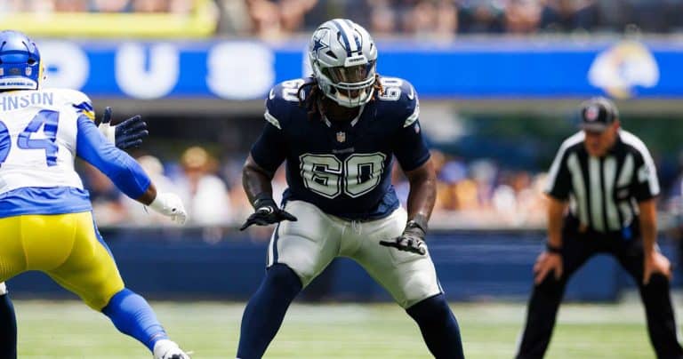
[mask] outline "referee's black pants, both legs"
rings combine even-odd
[[[643,285],[644,252],[638,237],[624,239],[622,235],[598,233],[579,234],[575,230],[563,230],[563,273],[559,280],[553,273],[546,275],[542,283],[534,285],[526,313],[526,327],[518,348],[517,358],[542,358],[550,343],[552,329],[559,303],[565,292],[566,282],[593,254],[612,254],[638,283],[640,299],[645,305],[647,332],[658,358],[683,358],[683,348],[676,337],[676,322],[669,281],[662,274],[654,274]]]

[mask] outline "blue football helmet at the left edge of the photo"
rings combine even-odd
[[[36,44],[19,31],[0,32],[0,91],[37,90],[42,77]]]

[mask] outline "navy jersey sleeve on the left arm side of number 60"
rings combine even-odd
[[[266,111],[263,117],[266,124],[258,140],[251,150],[252,158],[264,170],[275,172],[286,158],[286,140],[283,126],[289,120],[289,106],[291,104],[280,96],[281,85],[273,87],[266,100]]]

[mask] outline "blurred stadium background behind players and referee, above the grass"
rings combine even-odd
[[[478,313],[492,299],[511,300],[506,310],[518,314],[511,327],[521,327],[544,237],[544,172],[559,142],[576,131],[577,105],[594,95],[614,98],[624,127],[653,152],[663,187],[660,241],[679,262],[681,0],[2,0],[2,28],[36,38],[47,86],[87,93],[99,113],[111,106],[117,118],[145,118],[151,134],[133,156],[158,187],[180,193],[189,207],[189,226],[170,226],[79,164],[129,287],[151,299],[179,300],[182,310],[200,299],[234,300],[235,313],[227,316],[238,322],[241,301],[261,280],[270,231],[236,229],[252,211],[241,165],[264,124],[270,86],[307,74],[309,33],[333,17],[368,28],[380,74],[406,78],[420,94],[422,128],[438,164],[430,251],[448,299],[473,303],[455,306]],[[285,187],[283,174],[276,191]],[[400,172],[394,183],[405,200]],[[622,303],[634,287],[617,266],[593,259],[570,283],[567,299]],[[74,298],[44,275],[22,275],[9,286],[20,299],[20,322],[22,305],[36,323],[44,320],[34,312],[43,304],[29,299]],[[390,300],[345,259],[302,299]],[[609,309],[615,318],[619,306]],[[642,326],[642,318],[635,322]],[[234,341],[237,323],[229,325]],[[641,329],[635,335],[645,339]],[[510,350],[502,349],[503,357]]]

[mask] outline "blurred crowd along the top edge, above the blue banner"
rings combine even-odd
[[[683,0],[0,0],[12,12],[169,12],[212,3],[218,32],[277,39],[345,17],[375,36],[678,32]]]

